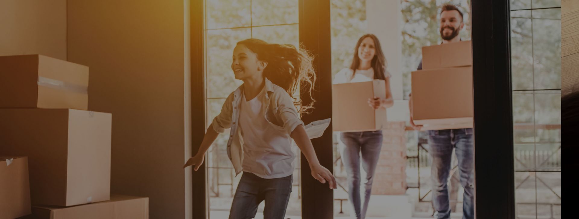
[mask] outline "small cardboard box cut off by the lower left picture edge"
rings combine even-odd
[[[13,219],[30,213],[28,158],[0,155],[0,219]]]

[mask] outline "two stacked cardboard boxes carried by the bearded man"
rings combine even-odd
[[[472,127],[471,41],[422,48],[423,70],[412,72],[412,117],[423,130]]]

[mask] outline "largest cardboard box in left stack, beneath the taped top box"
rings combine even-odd
[[[0,109],[0,154],[28,155],[32,205],[109,199],[111,118],[77,109]]]

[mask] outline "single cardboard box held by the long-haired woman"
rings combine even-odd
[[[386,109],[374,109],[368,98],[386,98],[383,80],[332,85],[332,126],[339,132],[380,130],[386,124]]]

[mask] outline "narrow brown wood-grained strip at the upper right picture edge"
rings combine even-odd
[[[562,94],[579,92],[579,0],[561,2]]]

